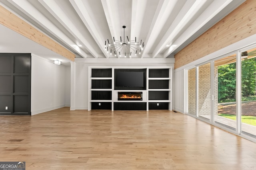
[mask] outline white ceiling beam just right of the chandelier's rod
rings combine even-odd
[[[131,35],[130,35],[131,40],[132,39],[135,40],[135,37],[136,37],[137,41],[139,41],[139,35],[142,29],[142,23],[143,23],[144,14],[146,11],[146,5],[147,5],[147,0],[132,0],[132,24],[131,24]]]

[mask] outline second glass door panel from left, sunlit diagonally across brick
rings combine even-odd
[[[211,113],[211,65],[198,66],[198,117],[210,121]]]

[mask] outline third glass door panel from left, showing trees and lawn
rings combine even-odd
[[[214,96],[214,123],[235,131],[236,54],[214,61]]]

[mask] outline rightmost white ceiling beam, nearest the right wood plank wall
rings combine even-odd
[[[206,25],[210,20],[212,20],[218,13],[220,13],[226,6],[236,1],[236,3],[244,2],[245,0],[214,0],[204,12],[192,23],[178,39],[176,39],[165,52],[164,58],[168,57],[173,51],[175,51],[180,45],[186,42],[192,35],[194,35],[200,28]],[[220,6],[220,4],[222,4]]]

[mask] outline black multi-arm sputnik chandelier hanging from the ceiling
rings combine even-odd
[[[123,26],[123,28],[125,29],[126,26]],[[119,55],[119,57],[121,57],[122,51],[124,53],[124,57],[126,57],[126,54],[129,54],[129,57],[131,57],[132,51],[135,53],[135,55],[137,55],[137,53],[140,54],[143,50],[144,42],[142,43],[142,40],[137,42],[136,37],[135,40],[129,40],[128,36],[126,37],[127,39],[125,39],[125,36],[122,39],[120,36],[120,41],[116,40],[115,37],[113,37],[113,41],[105,41],[105,50],[107,53],[110,52],[110,55],[114,53],[115,56]]]

